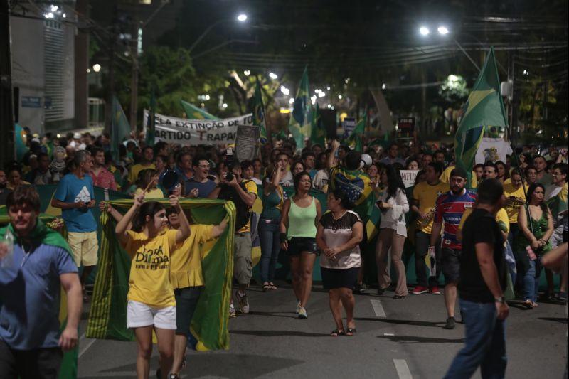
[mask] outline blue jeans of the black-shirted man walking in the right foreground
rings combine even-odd
[[[506,374],[506,322],[496,319],[496,304],[460,299],[466,324],[464,348],[454,357],[445,379],[470,378],[480,366],[482,378]]]

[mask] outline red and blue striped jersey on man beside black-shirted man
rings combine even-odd
[[[476,201],[476,195],[468,190],[460,195],[454,195],[452,191],[443,193],[437,198],[435,203],[435,223],[445,222],[442,233],[442,247],[451,249],[462,249],[461,243],[457,240],[457,230],[464,210],[472,208]]]

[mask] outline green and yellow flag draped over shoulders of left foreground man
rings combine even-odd
[[[8,215],[5,213],[6,207],[2,207],[0,210],[0,224],[9,223]],[[45,245],[61,247],[63,250],[71,254],[71,249],[63,238],[55,230],[48,228],[43,220],[50,220],[53,217],[48,215],[42,215],[38,218],[38,223],[36,228],[34,228],[29,237],[33,241],[41,241],[41,243]],[[0,229],[0,239],[4,239],[4,235],[6,234],[6,230],[10,230],[11,233],[15,236],[14,229],[12,225],[7,225],[4,228]],[[60,291],[60,301],[59,301],[59,324],[60,330],[63,331],[65,329],[65,324],[67,324],[67,294],[63,290],[63,287]],[[78,346],[75,346],[73,350],[66,351],[63,354],[63,361],[61,362],[61,366],[59,369],[59,376],[60,379],[74,379],[77,378],[77,359],[78,359]]]

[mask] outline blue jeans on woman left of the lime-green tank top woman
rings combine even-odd
[[[261,218],[259,220],[259,239],[261,242],[261,282],[275,279],[275,268],[280,252],[280,221]]]

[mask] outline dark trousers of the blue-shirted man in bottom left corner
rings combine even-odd
[[[14,350],[0,339],[0,378],[57,379],[62,358],[60,348]]]

